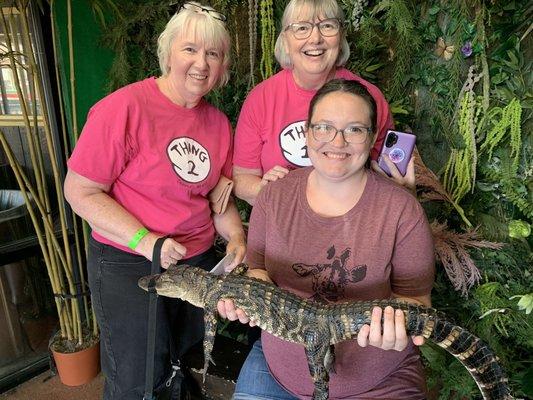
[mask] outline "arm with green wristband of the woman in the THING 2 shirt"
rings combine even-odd
[[[95,182],[69,169],[65,179],[65,198],[72,210],[86,220],[95,232],[117,244],[127,246],[143,225],[109,196],[110,188],[109,184]],[[152,260],[154,244],[159,237],[149,232],[139,241],[135,251]],[[185,254],[185,247],[169,238],[161,249],[161,265],[168,267]]]

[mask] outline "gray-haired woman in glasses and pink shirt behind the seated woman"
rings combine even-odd
[[[250,92],[235,130],[235,194],[248,203],[253,205],[269,182],[311,165],[304,131],[309,102],[333,78],[359,81],[377,103],[377,136],[371,153],[372,159],[377,158],[387,130],[393,127],[392,117],[381,91],[343,67],[350,55],[344,23],[336,0],[291,0],[285,8],[275,47],[282,70]],[[405,177],[394,163],[385,162],[397,183],[414,188],[413,162]],[[377,163],[372,166],[382,172]]]

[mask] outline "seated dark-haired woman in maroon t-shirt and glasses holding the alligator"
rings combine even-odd
[[[311,101],[312,167],[267,185],[250,219],[249,275],[325,302],[401,298],[430,306],[431,232],[404,188],[365,167],[376,140],[376,104],[358,82],[332,80]],[[312,234],[310,235],[310,233]],[[242,310],[219,306],[229,319]],[[383,315],[383,323],[381,318]],[[252,321],[253,323],[253,321]],[[356,340],[335,346],[332,399],[424,399],[419,353],[403,313],[372,310]],[[263,332],[242,367],[235,400],[309,399],[303,346]]]

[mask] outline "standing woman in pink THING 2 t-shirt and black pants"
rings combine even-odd
[[[150,273],[157,239],[168,237],[163,268],[187,263],[211,269],[215,232],[228,240],[235,264],[244,256],[234,203],[212,214],[208,201],[221,176],[231,177],[230,123],[203,99],[228,80],[224,20],[211,7],[185,3],[159,37],[162,76],[97,103],[68,162],[65,196],[92,227],[88,273],[105,399],[143,398],[149,296],[137,281]],[[203,335],[200,309],[160,301],[165,307],[157,314],[156,387],[169,375],[169,358]]]

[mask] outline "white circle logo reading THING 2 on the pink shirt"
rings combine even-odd
[[[196,140],[188,137],[174,139],[167,147],[167,154],[174,172],[184,181],[198,183],[209,175],[209,153]]]

